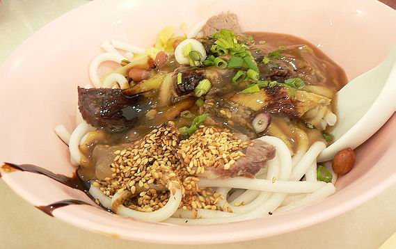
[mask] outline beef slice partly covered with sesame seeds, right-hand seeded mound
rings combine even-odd
[[[243,138],[244,140],[241,140]],[[177,156],[191,175],[207,179],[253,178],[274,159],[276,149],[262,140],[246,140],[220,127],[200,127],[180,141]]]

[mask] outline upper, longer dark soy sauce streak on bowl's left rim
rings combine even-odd
[[[54,179],[56,182],[60,182],[61,184],[65,184],[66,186],[70,186],[70,188],[75,188],[80,191],[88,190],[88,186],[77,176],[74,174],[73,177],[67,177],[65,175],[56,174],[45,168],[40,168],[38,166],[34,166],[32,164],[14,164],[14,163],[4,163],[2,166],[4,172],[13,172],[15,170],[32,172],[39,175],[45,175],[51,179]]]

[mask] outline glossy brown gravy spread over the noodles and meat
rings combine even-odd
[[[276,88],[270,88],[268,91],[266,90],[264,95],[261,95],[261,99],[252,99],[255,98],[255,95],[242,96],[247,99],[241,99],[241,104],[239,103],[239,106],[235,107],[235,99],[230,100],[230,98],[237,95],[237,93],[251,83],[242,81],[239,86],[233,84],[231,80],[237,70],[220,70],[214,66],[188,68],[187,70],[191,72],[187,75],[189,75],[188,77],[192,77],[191,79],[205,75],[212,82],[212,92],[207,94],[206,100],[212,98],[217,105],[206,110],[210,112],[210,119],[207,120],[207,124],[228,125],[233,131],[246,134],[252,139],[264,134],[277,136],[286,143],[287,147],[293,153],[299,150],[308,150],[308,147],[317,140],[322,140],[326,143],[326,140],[322,136],[323,131],[308,129],[306,127],[306,121],[301,120],[304,116],[294,118],[299,111],[296,106],[299,105],[299,101],[304,101],[304,99],[310,100],[310,96],[307,97],[304,94],[315,93],[321,97],[326,97],[326,99],[331,99],[331,105],[326,107],[326,109],[328,108],[333,113],[336,113],[334,104],[336,93],[347,83],[344,70],[331,61],[322,51],[317,49],[315,45],[293,35],[265,32],[250,32],[247,35],[253,35],[255,40],[255,45],[251,51],[253,57],[260,64],[260,77],[263,80],[274,80],[271,78],[271,76],[274,76],[274,71],[277,73],[278,71],[280,72],[280,82],[292,77],[299,77],[306,83],[306,86],[301,89],[303,92],[300,93],[300,96],[303,96],[303,98],[299,100],[294,99],[291,95],[280,96]],[[281,47],[283,49],[280,49]],[[264,63],[261,63],[262,57],[269,56],[269,53],[272,51],[279,51],[281,56],[276,59],[271,58],[274,60],[273,65],[264,65]],[[168,63],[159,70],[155,70],[155,72],[173,73],[174,70],[185,72],[184,70],[186,68],[180,67],[180,65],[175,63],[173,57],[171,57]],[[278,74],[275,74],[275,77],[278,77]],[[168,103],[168,106],[159,106],[160,90],[146,92],[145,96],[150,100],[148,102],[150,104],[150,111],[140,117],[138,122],[140,125],[138,127],[118,134],[107,134],[101,130],[88,134],[85,143],[80,146],[81,152],[84,154],[79,169],[80,177],[83,177],[87,181],[93,178],[104,179],[106,175],[111,175],[109,164],[113,163],[113,152],[116,152],[116,150],[121,151],[123,148],[129,146],[134,140],[147,134],[152,129],[151,127],[155,127],[157,124],[168,120],[175,121],[177,127],[189,126],[191,124],[193,118],[180,118],[180,112],[177,111],[178,105],[183,105],[181,104],[183,101],[189,101],[188,97],[175,97]],[[258,110],[261,110],[262,107],[255,106],[254,104],[263,102],[265,101],[264,99],[272,102],[271,106],[275,108],[282,101],[289,102],[289,104],[292,103],[292,107],[280,106],[283,112],[280,111],[279,113],[283,114],[271,112],[272,121],[267,131],[264,134],[255,134],[254,131],[252,133],[251,120],[254,118],[255,113],[260,112]],[[195,102],[196,99],[193,98],[191,101]],[[248,105],[248,102],[251,105]],[[254,107],[257,107],[257,109],[254,109]],[[285,114],[285,109],[290,109],[290,115]],[[194,116],[199,115],[205,110],[202,108],[198,109],[194,104],[192,107],[189,106],[189,111]],[[228,111],[232,113],[228,115]],[[225,115],[223,115],[224,113]],[[328,129],[324,132],[328,132]]]

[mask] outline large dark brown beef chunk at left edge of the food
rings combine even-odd
[[[134,127],[150,110],[143,95],[126,97],[120,89],[78,88],[79,111],[93,127],[120,132]]]

